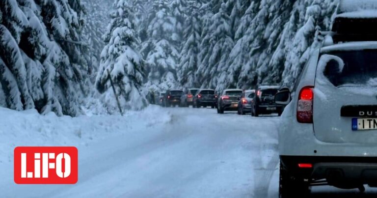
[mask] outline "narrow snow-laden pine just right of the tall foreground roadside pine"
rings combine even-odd
[[[155,91],[174,88],[178,85],[176,66],[179,52],[175,45],[175,19],[171,16],[167,0],[155,0],[149,15],[148,40],[143,43],[142,54],[146,57],[147,89]]]

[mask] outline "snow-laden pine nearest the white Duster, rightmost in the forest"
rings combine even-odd
[[[331,28],[332,18],[336,14],[338,0],[297,1],[293,14],[286,24],[281,42],[270,67],[274,73],[280,72],[283,85],[293,87],[302,67],[313,49],[321,47],[318,31]],[[301,8],[305,7],[305,10]],[[292,28],[292,29],[291,29]],[[280,64],[276,64],[279,62]],[[270,74],[275,77],[276,75]]]

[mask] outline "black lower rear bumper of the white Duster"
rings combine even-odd
[[[377,185],[377,157],[280,156],[280,160],[290,173],[309,181],[326,179],[339,188]],[[313,168],[301,169],[298,163],[310,163]]]

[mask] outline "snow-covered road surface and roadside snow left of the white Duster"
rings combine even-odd
[[[51,122],[44,120],[49,116],[35,116],[37,118],[33,119],[38,119],[42,126]],[[82,125],[80,140],[61,143],[79,149],[78,183],[16,185],[13,182],[13,161],[7,161],[9,156],[0,153],[0,197],[278,197],[278,117],[255,118],[236,113],[220,115],[213,109],[153,107],[142,113],[108,120],[96,116],[54,119],[62,122],[62,126],[56,125],[57,129],[63,127],[65,121]],[[104,123],[97,123],[100,119]],[[24,122],[25,127],[30,124]],[[101,127],[108,122],[110,124],[103,130]],[[86,125],[93,125],[89,129],[91,131],[86,130]],[[53,129],[56,130],[56,127]],[[71,127],[76,131],[79,126]],[[100,136],[94,133],[95,130],[98,133],[115,132],[110,135],[103,132],[105,138],[84,138],[88,133]],[[33,138],[21,141],[22,145],[30,145],[27,142]],[[11,140],[11,137],[8,139]],[[46,138],[42,144],[51,145],[52,139]],[[37,136],[35,140],[39,140]],[[4,140],[0,143],[3,145]],[[19,144],[16,142],[14,145]],[[35,145],[35,142],[31,144]],[[370,194],[373,193],[371,189],[367,189],[368,193],[363,196],[350,194],[357,191],[339,191],[329,187],[314,192],[312,197],[321,198],[376,196]],[[334,192],[346,194],[334,196]]]

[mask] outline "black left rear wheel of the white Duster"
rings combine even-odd
[[[309,185],[303,179],[294,177],[280,163],[279,198],[306,198],[308,194]]]

